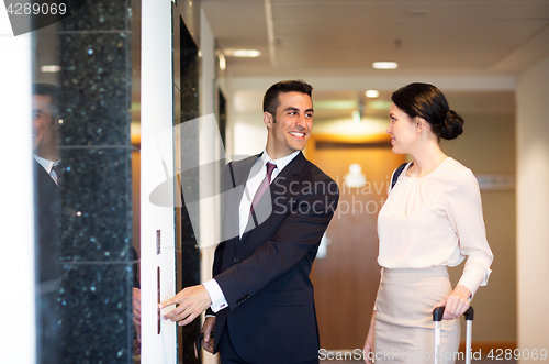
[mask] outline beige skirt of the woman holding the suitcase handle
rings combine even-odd
[[[426,269],[386,269],[376,300],[376,364],[434,363],[435,324],[429,310],[451,293],[446,266]],[[459,320],[440,323],[438,363],[460,357]]]

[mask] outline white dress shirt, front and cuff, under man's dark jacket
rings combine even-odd
[[[246,181],[246,186],[244,189],[244,194],[240,200],[239,206],[239,238],[242,238],[244,230],[248,223],[249,219],[249,210],[251,208],[251,200],[254,199],[254,195],[256,195],[259,185],[264,180],[267,175],[267,168],[265,167],[268,162],[277,165],[277,167],[272,170],[271,174],[271,184],[277,178],[277,176],[285,168],[285,166],[295,158],[295,156],[300,152],[293,152],[290,155],[287,155],[279,159],[271,159],[271,157],[267,154],[267,151],[264,151],[261,156],[257,158],[256,163],[251,166],[251,169],[248,175],[248,179]],[[217,282],[214,279],[210,279],[202,284],[208,294],[210,295],[210,299],[212,300],[212,306],[210,307],[212,311],[217,312],[228,306],[227,300],[225,299],[225,295],[221,289]]]

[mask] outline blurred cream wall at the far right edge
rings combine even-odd
[[[530,351],[549,350],[548,95],[549,57],[520,75],[516,91],[517,331]]]

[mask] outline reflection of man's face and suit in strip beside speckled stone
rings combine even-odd
[[[59,159],[59,88],[37,84],[33,87],[33,148],[35,178],[35,227],[37,264],[37,346],[44,355],[40,363],[54,363],[59,357],[59,187],[54,168]],[[43,357],[44,356],[44,357]],[[47,356],[48,359],[45,359]]]

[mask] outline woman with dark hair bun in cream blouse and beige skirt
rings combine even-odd
[[[382,266],[366,363],[434,362],[433,309],[446,306],[438,363],[455,363],[458,319],[488,283],[492,251],[486,242],[479,185],[472,172],[445,155],[440,139],[462,133],[463,120],[433,85],[411,84],[392,95],[393,153],[413,158],[402,170],[378,217]],[[448,266],[467,257],[452,290]]]

